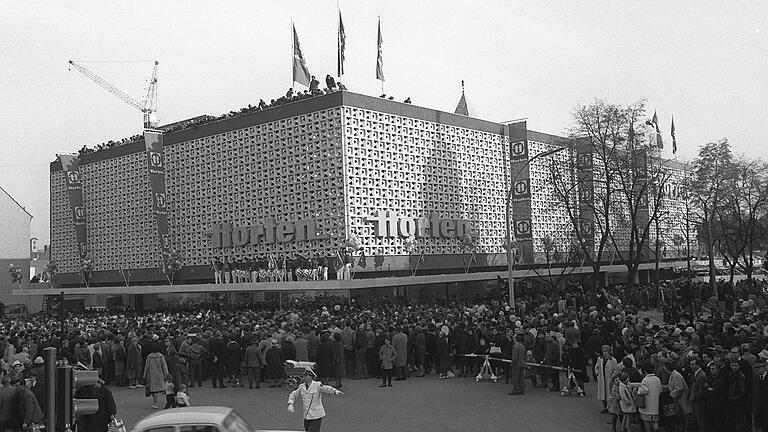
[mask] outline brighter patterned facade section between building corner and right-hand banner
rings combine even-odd
[[[404,237],[376,237],[366,218],[470,221],[478,252],[503,253],[507,142],[501,134],[344,108],[349,222],[365,253],[407,255]],[[427,255],[465,253],[456,238],[429,238]]]

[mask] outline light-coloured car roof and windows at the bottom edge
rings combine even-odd
[[[237,411],[223,406],[173,408],[141,419],[131,432],[277,432],[254,429]]]

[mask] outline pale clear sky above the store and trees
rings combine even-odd
[[[49,242],[49,166],[141,132],[141,113],[69,70],[86,67],[140,100],[159,61],[160,123],[219,115],[291,87],[291,22],[312,74],[335,74],[337,2],[2,2],[0,187]],[[647,100],[676,157],[727,137],[768,158],[768,2],[340,0],[350,91],[452,112],[461,80],[477,117],[527,118],[565,134],[574,108]],[[298,86],[298,84],[297,84]],[[665,151],[672,157],[667,145]]]

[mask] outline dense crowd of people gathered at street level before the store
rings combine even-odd
[[[636,300],[625,286],[595,294],[578,283],[521,288],[515,308],[495,295],[430,304],[384,297],[365,306],[307,297],[240,309],[69,314],[63,325],[44,314],[4,318],[0,392],[12,389],[17,404],[25,389],[39,397],[45,347],[97,370],[107,385],[144,388],[158,409],[163,397],[169,408],[188,405],[205,383],[281,387],[287,360],[314,362],[319,379],[340,389],[344,379],[378,378],[390,388],[392,378],[474,377],[488,356],[511,394],[525,394],[530,382],[584,395],[584,383],[596,380],[594,397],[616,431],[636,423],[645,431],[768,430],[766,282],[722,284],[718,297],[685,280],[636,288],[658,299],[647,307],[663,310],[663,320],[625,302]],[[22,411],[3,418],[0,409],[0,424],[39,419],[34,409],[22,419]],[[112,415],[101,413],[98,430]]]

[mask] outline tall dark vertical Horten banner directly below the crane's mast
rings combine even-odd
[[[168,239],[168,210],[165,195],[165,161],[163,158],[163,135],[160,132],[144,131],[144,145],[147,149],[147,172],[152,193],[152,213],[157,221],[157,237],[163,256],[170,248]]]

